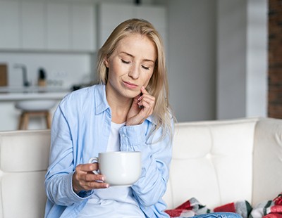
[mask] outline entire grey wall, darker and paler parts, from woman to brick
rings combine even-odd
[[[179,122],[266,116],[267,1],[156,0],[168,8]]]

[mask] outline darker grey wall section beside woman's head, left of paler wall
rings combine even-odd
[[[216,0],[167,1],[170,101],[179,122],[216,116]]]

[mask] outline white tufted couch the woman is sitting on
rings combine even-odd
[[[282,120],[179,123],[173,141],[168,208],[192,197],[255,205],[282,191]],[[49,130],[0,132],[0,218],[44,217],[49,143]]]

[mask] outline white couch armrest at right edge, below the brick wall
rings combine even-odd
[[[255,127],[252,204],[282,191],[282,120],[261,118]]]

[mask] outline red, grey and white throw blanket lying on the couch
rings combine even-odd
[[[166,213],[169,214],[171,218],[193,217],[210,212],[236,212],[243,218],[282,218],[282,193],[274,198],[274,200],[259,203],[253,208],[247,200],[242,200],[221,205],[215,207],[214,210],[210,210],[206,206],[201,205],[196,198],[191,198],[173,210],[166,210]]]

